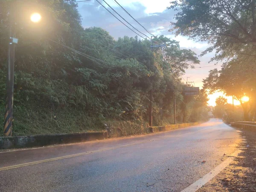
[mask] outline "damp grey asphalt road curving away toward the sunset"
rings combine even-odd
[[[239,142],[236,129],[211,119],[159,134],[4,152],[0,169],[29,164],[0,170],[0,191],[179,192],[220,164]]]

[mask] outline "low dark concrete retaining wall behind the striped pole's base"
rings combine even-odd
[[[55,134],[0,137],[0,149],[39,147],[46,145],[79,143],[92,140],[103,140],[108,138],[107,131],[76,134]]]

